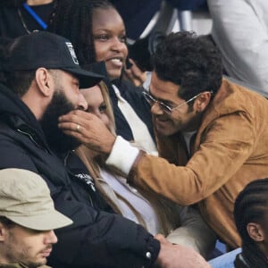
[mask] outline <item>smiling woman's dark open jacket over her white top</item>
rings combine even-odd
[[[138,117],[147,125],[152,138],[155,139],[152,114],[150,106],[147,104],[145,97],[142,95],[143,88],[138,88],[126,80],[113,80],[113,84],[119,89],[121,96],[130,104]],[[121,113],[117,105],[117,96],[112,86],[109,86],[109,95],[113,105],[113,113],[115,119],[116,134],[126,140],[133,140],[133,134],[130,125]]]

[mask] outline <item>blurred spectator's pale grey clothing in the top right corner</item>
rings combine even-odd
[[[208,0],[225,71],[268,97],[268,2]],[[250,87],[250,86],[253,87]]]

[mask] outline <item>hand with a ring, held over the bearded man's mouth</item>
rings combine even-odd
[[[59,118],[58,127],[98,153],[110,154],[112,151],[116,137],[95,114],[71,111]]]

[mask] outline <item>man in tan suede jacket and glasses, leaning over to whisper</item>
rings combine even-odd
[[[268,176],[268,102],[222,80],[219,51],[205,37],[180,32],[157,46],[149,93],[160,157],[114,137],[90,113],[60,118],[59,126],[88,147],[107,153],[106,163],[128,181],[180,205],[196,205],[230,247],[240,239],[233,204],[251,180]],[[80,124],[80,131],[74,131]]]

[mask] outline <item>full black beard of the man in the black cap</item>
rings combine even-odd
[[[55,90],[46,112],[39,121],[49,147],[56,154],[63,154],[80,146],[78,139],[64,134],[63,130],[58,128],[58,118],[72,110],[75,110],[75,107],[63,94],[63,90]]]

